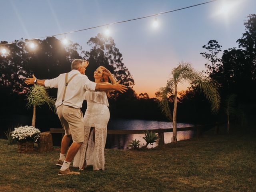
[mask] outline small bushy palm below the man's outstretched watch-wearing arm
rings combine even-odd
[[[56,99],[49,96],[45,87],[35,84],[28,90],[27,97],[28,98],[26,98],[26,100],[28,100],[28,108],[33,106],[32,126],[35,126],[36,124],[36,106],[48,104],[49,108],[55,111]]]

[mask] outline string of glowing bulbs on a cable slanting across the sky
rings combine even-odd
[[[167,13],[170,13],[170,12],[175,12],[175,11],[179,11],[179,10],[183,10],[183,9],[188,9],[188,8],[192,8],[192,7],[195,7],[195,6],[200,6],[200,5],[203,5],[203,4],[208,4],[208,3],[211,3],[211,2],[214,2],[214,1],[217,1],[217,0],[211,0],[211,1],[208,1],[208,2],[204,2],[204,3],[192,5],[192,6],[187,6],[187,7],[184,7],[184,8],[179,8],[179,9],[175,9],[175,10],[160,12],[160,13],[156,13],[156,14],[152,14],[152,15],[148,15],[148,16],[143,16],[143,17],[139,17],[139,18],[134,18],[134,19],[129,19],[129,20],[124,20],[124,21],[113,22],[113,23],[109,23],[109,24],[103,24],[103,25],[94,26],[94,27],[85,28],[85,29],[74,30],[74,31],[70,31],[70,32],[64,32],[64,33],[60,33],[60,34],[54,34],[54,35],[43,36],[43,37],[32,38],[32,39],[26,39],[26,40],[17,40],[17,41],[15,41],[15,42],[9,42],[9,43],[0,44],[0,46],[10,45],[10,44],[18,43],[18,42],[32,41],[32,40],[42,39],[42,38],[47,38],[47,37],[52,37],[52,36],[66,35],[66,34],[71,34],[71,33],[74,33],[74,32],[80,32],[80,31],[90,30],[90,29],[99,28],[99,27],[103,27],[103,26],[107,26],[107,31],[106,31],[106,33],[108,33],[108,26],[113,25],[113,24],[120,24],[120,23],[124,23],[124,22],[130,22],[130,21],[139,20],[139,19],[144,19],[144,18],[149,18],[149,17],[156,17],[156,16],[158,16],[158,15],[167,14]],[[156,20],[156,18],[155,18],[154,23],[153,23],[153,26],[157,26],[157,25],[158,25],[158,24],[157,24],[157,20]],[[64,39],[64,44],[66,44],[66,43],[67,43],[67,40]],[[33,48],[33,47],[34,47],[34,44],[31,43],[31,44],[30,44],[30,47]]]

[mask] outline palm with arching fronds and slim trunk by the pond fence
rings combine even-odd
[[[201,72],[197,72],[192,68],[192,64],[188,62],[181,62],[178,67],[171,72],[171,77],[167,80],[165,87],[160,88],[160,99],[158,104],[162,109],[162,113],[173,122],[173,136],[172,141],[177,142],[177,86],[184,81],[198,82],[200,89],[204,92],[206,98],[212,104],[212,112],[218,112],[220,108],[220,94],[216,89],[216,83],[209,81]],[[174,95],[174,109],[173,115],[168,104],[168,97]]]

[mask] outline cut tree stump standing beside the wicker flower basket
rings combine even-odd
[[[52,145],[52,134],[50,131],[40,133],[40,138],[38,141],[38,152],[50,152],[53,150]]]

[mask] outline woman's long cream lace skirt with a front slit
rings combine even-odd
[[[94,170],[104,170],[104,148],[109,118],[110,113],[105,104],[87,102],[84,115],[84,142],[74,158],[73,166],[82,169],[86,160],[86,164],[93,165]],[[90,132],[91,127],[94,129]]]

